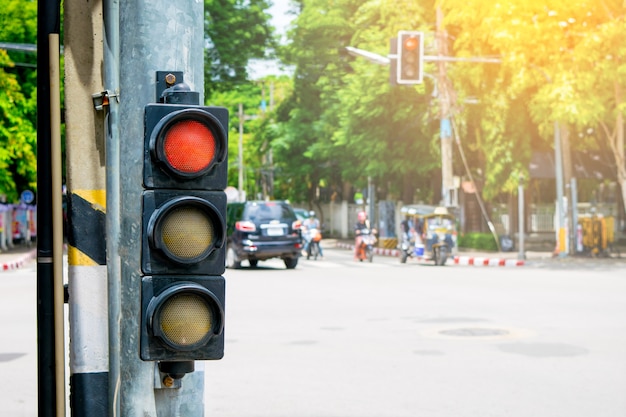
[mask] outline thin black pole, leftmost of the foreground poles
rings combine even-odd
[[[56,171],[52,157],[52,131],[57,122],[52,109],[52,98],[56,100],[51,76],[58,84],[59,74],[51,70],[51,58],[58,58],[58,35],[60,32],[60,3],[54,0],[39,0],[37,22],[37,372],[38,410],[40,417],[61,417],[65,412],[65,391],[63,381],[63,339],[58,334],[56,323],[63,322],[59,317],[56,303],[59,299],[58,279],[55,277],[62,254],[57,253],[53,230],[59,220],[54,218],[55,197],[60,189],[53,189],[53,174]],[[54,54],[50,47],[57,45]],[[58,62],[55,63],[55,65]],[[59,155],[60,156],[60,155]],[[60,309],[62,313],[63,309]],[[62,315],[62,314],[61,314]],[[59,351],[60,350],[60,351]],[[59,369],[60,368],[60,369]]]

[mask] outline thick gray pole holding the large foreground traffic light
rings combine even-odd
[[[139,357],[144,107],[157,101],[157,71],[182,71],[184,82],[203,95],[203,24],[203,2],[119,3],[121,227],[115,256],[121,258],[120,344],[116,353],[120,373],[110,395],[122,417],[197,417],[204,413],[201,367],[181,380],[181,388],[161,389],[155,378],[156,363]]]

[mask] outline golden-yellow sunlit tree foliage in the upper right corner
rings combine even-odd
[[[503,117],[511,108],[510,103],[524,98],[527,108],[524,113],[530,114],[532,123],[538,127],[543,146],[550,142],[557,121],[575,129],[592,127],[604,132],[601,148],[613,151],[616,177],[622,196],[626,197],[623,139],[626,48],[621,41],[626,35],[626,8],[623,2],[508,0],[494,5],[479,0],[444,0],[442,4],[447,24],[456,29],[458,55],[502,57],[502,65],[492,77],[480,67],[465,66],[465,72],[456,73],[461,86],[483,92],[481,100],[490,109],[494,109],[493,103],[499,103],[501,108],[496,119],[487,118],[492,126],[482,126],[493,136],[494,143],[501,144],[485,149],[490,154],[487,159],[494,162],[487,167],[493,174],[489,183],[513,186],[510,178],[498,175],[507,171],[503,164],[512,163],[510,158],[503,158],[506,155],[503,146],[508,144],[509,151],[522,150],[526,158],[529,155],[530,141],[526,145],[518,141],[511,146],[510,138],[504,134],[506,126],[511,126],[510,119]],[[580,141],[572,146],[588,144]],[[526,158],[516,159],[525,166]]]

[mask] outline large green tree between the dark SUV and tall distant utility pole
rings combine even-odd
[[[416,174],[432,169],[436,159],[430,96],[418,93],[423,88],[390,87],[389,68],[350,57],[345,47],[386,55],[398,29],[425,25],[424,9],[397,1],[308,0],[300,6],[291,42],[281,51],[296,68],[294,89],[279,108],[280,136],[273,142],[285,177],[294,182],[289,189],[313,202],[320,186],[348,193],[371,177],[383,197],[411,184],[412,199]]]

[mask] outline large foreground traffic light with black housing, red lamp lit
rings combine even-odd
[[[168,90],[145,107],[140,356],[180,377],[224,354],[228,110]]]

